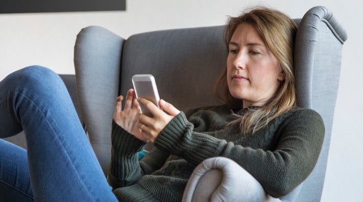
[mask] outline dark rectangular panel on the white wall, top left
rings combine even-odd
[[[124,10],[126,0],[0,0],[0,13]]]

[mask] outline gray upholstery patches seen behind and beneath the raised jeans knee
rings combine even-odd
[[[77,97],[77,91],[76,91],[76,80],[75,80],[75,75],[70,75],[70,74],[60,74],[59,75],[60,78],[62,78],[65,86],[67,87],[68,92],[71,95],[74,107],[77,111],[78,117],[83,125],[83,120],[82,120],[82,115],[80,112],[80,108],[79,108],[79,103],[78,103],[78,97]],[[27,141],[24,135],[24,132],[21,132],[15,136],[12,137],[8,137],[8,138],[4,138],[4,140],[7,140],[9,142],[12,142],[22,148],[27,149]]]

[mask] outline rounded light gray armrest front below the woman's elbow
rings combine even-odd
[[[253,194],[248,196],[248,193],[252,192],[262,193],[261,197],[266,196],[257,180],[236,162],[224,157],[215,157],[203,161],[194,169],[183,201],[240,201],[241,198],[248,200],[246,197],[255,197]],[[279,201],[270,196],[266,199]]]

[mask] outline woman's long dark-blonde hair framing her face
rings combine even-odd
[[[240,123],[244,133],[255,133],[265,127],[269,121],[296,107],[293,48],[297,25],[280,11],[265,7],[250,8],[238,17],[230,17],[226,23],[224,40],[227,48],[233,33],[241,23],[251,24],[256,29],[266,46],[278,60],[281,70],[285,73],[285,80],[281,81],[275,95],[264,106],[250,108],[231,123]],[[241,108],[242,100],[233,97],[229,91],[226,73],[227,69],[225,68],[218,78],[217,97],[231,108]]]

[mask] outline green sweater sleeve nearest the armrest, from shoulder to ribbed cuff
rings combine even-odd
[[[316,112],[300,110],[280,128],[277,148],[265,151],[193,132],[193,124],[180,113],[154,145],[193,164],[216,156],[230,158],[251,173],[268,194],[281,197],[303,182],[314,168],[324,139],[324,123]]]

